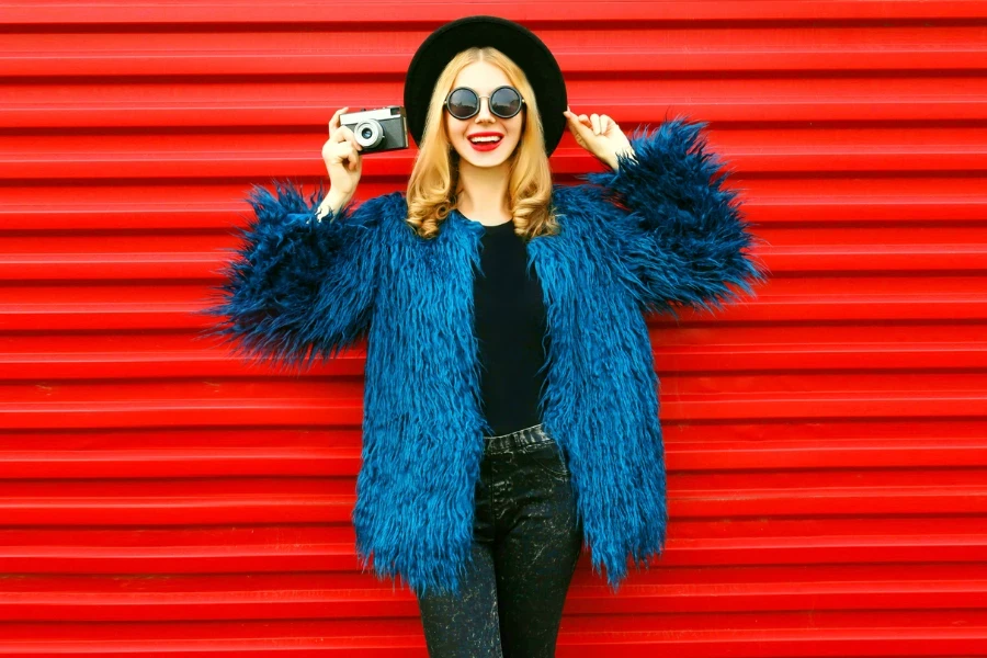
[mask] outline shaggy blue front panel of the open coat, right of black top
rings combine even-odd
[[[615,589],[628,555],[646,566],[665,541],[658,377],[609,218],[568,188],[555,201],[561,231],[530,243],[552,336],[542,420],[567,455],[593,568]]]

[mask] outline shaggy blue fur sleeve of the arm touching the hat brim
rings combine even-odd
[[[706,150],[705,126],[683,118],[644,126],[629,137],[634,157],[620,154],[616,171],[585,174],[611,202],[601,201],[602,214],[645,310],[718,309],[739,296],[728,284],[753,295],[767,280],[748,252],[761,240],[748,232],[737,193],[723,188],[727,174]]]

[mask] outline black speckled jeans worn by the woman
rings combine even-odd
[[[569,475],[540,424],[485,438],[473,565],[458,597],[418,599],[431,658],[555,656],[582,549]]]

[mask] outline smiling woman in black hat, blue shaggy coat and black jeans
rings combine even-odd
[[[663,548],[644,314],[719,307],[765,270],[701,124],[628,139],[577,116],[517,23],[440,27],[405,106],[419,145],[407,193],[351,207],[361,148],[337,112],[329,193],[257,189],[243,258],[207,313],[251,358],[292,365],[365,337],[363,567],[410,585],[432,656],[552,656],[583,542],[614,589],[628,556],[639,568]],[[566,127],[611,171],[553,185]]]

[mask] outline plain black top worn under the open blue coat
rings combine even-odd
[[[480,268],[474,277],[483,410],[491,435],[541,422],[538,394],[548,345],[542,284],[527,269],[524,240],[514,223],[485,226]],[[545,341],[545,347],[542,341]]]

